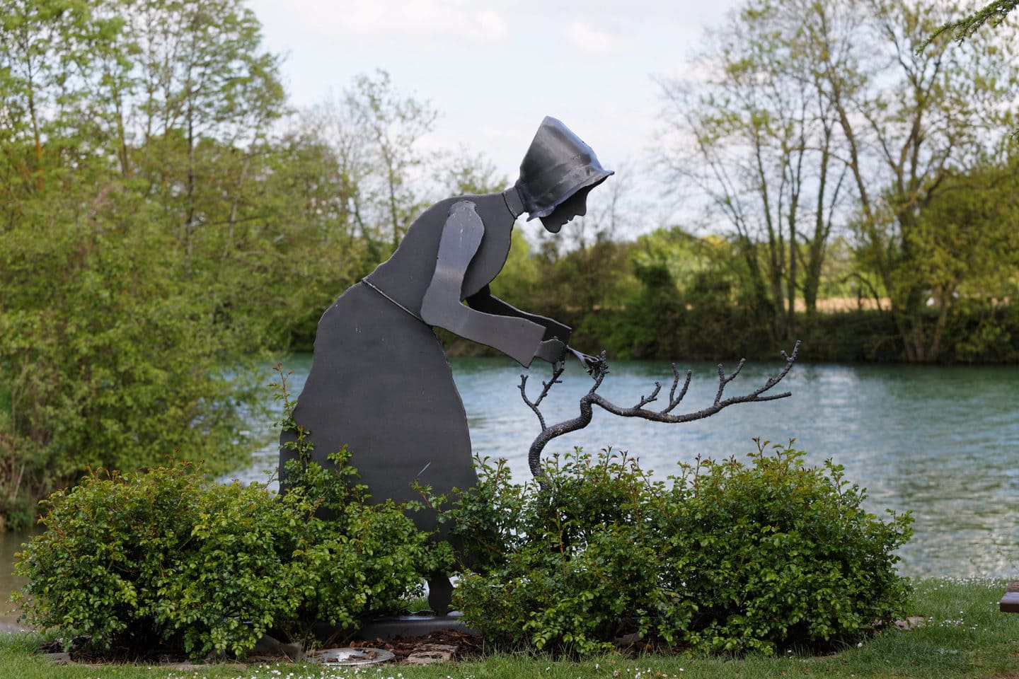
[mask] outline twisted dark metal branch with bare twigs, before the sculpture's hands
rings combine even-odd
[[[654,390],[649,396],[641,396],[636,405],[624,408],[597,393],[598,388],[601,387],[601,383],[608,374],[608,365],[605,363],[605,352],[602,351],[599,356],[600,362],[595,365],[592,372],[592,377],[594,377],[594,386],[592,386],[590,391],[584,394],[584,396],[580,399],[580,415],[551,426],[545,423],[545,417],[541,414],[541,410],[538,406],[541,405],[541,401],[543,401],[545,396],[548,395],[552,385],[561,383],[559,377],[562,375],[566,363],[564,361],[558,361],[552,365],[552,379],[548,382],[542,383],[541,393],[533,401],[527,396],[527,376],[522,375],[520,376],[519,387],[521,396],[524,399],[524,402],[527,403],[528,407],[530,407],[531,410],[534,411],[534,414],[538,416],[538,422],[541,425],[541,433],[538,434],[534,442],[531,444],[531,448],[527,455],[527,462],[531,467],[531,473],[534,474],[536,479],[538,479],[541,487],[545,488],[545,484],[542,482],[542,477],[545,472],[541,468],[541,451],[544,450],[545,446],[552,439],[587,427],[591,422],[591,417],[593,415],[592,406],[594,405],[597,405],[601,409],[607,410],[608,412],[621,417],[640,417],[642,419],[649,419],[655,422],[678,423],[689,422],[695,419],[703,419],[735,403],[755,403],[758,401],[773,401],[780,398],[786,398],[792,395],[792,393],[787,391],[782,394],[766,394],[765,392],[782,382],[783,378],[789,374],[789,371],[793,367],[793,363],[796,361],[796,356],[799,353],[799,350],[800,342],[797,341],[793,347],[792,353],[787,354],[783,351],[782,356],[786,359],[786,365],[782,369],[779,375],[769,377],[762,386],[754,389],[749,394],[745,394],[743,396],[733,396],[725,399],[722,398],[722,392],[725,392],[729,383],[735,380],[740,374],[740,371],[743,370],[743,364],[746,362],[746,359],[740,359],[739,364],[737,364],[736,370],[733,371],[732,375],[726,375],[725,369],[721,366],[721,363],[719,363],[718,391],[715,392],[714,402],[706,408],[682,414],[674,414],[673,410],[675,410],[680,404],[683,397],[687,395],[687,389],[690,387],[690,379],[693,376],[693,371],[687,371],[686,379],[683,380],[683,384],[681,386],[680,372],[676,369],[676,363],[673,363],[673,385],[668,390],[668,404],[665,405],[664,408],[661,410],[650,410],[645,407],[649,403],[653,403],[658,400],[658,394],[661,392],[660,382],[654,383]]]

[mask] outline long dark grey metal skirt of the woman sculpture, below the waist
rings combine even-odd
[[[322,315],[293,419],[310,432],[320,464],[346,445],[376,502],[420,500],[415,479],[438,493],[477,483],[464,403],[442,346],[424,322],[363,283]],[[288,454],[280,454],[281,478]],[[412,517],[435,529],[432,512]]]

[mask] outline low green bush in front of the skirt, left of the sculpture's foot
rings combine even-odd
[[[210,483],[189,463],[148,473],[91,472],[44,501],[46,532],[19,555],[24,619],[90,637],[98,654],[184,650],[243,656],[268,630],[308,635],[355,628],[419,593],[446,552],[392,502],[369,504],[338,470],[309,465],[315,483],[283,496],[254,484]],[[300,476],[300,474],[299,474]],[[316,516],[316,484],[342,507]]]

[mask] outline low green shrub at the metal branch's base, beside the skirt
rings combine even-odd
[[[548,494],[512,485],[503,462],[479,464],[478,487],[443,516],[475,559],[453,604],[486,640],[590,653],[672,606],[630,520],[642,494],[632,464],[570,458],[549,469]],[[682,615],[669,613],[659,619]]]

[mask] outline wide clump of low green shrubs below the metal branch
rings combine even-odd
[[[491,641],[567,653],[633,632],[726,653],[854,641],[902,613],[894,551],[912,519],[877,520],[842,467],[803,457],[760,446],[666,484],[578,451],[546,466],[545,491],[481,461],[444,514],[476,555],[454,604]]]

